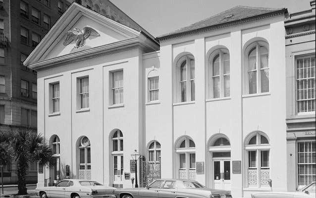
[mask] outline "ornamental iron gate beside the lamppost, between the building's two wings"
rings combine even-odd
[[[161,161],[147,162],[145,157],[140,157],[140,186],[145,187],[146,185],[160,178]]]

